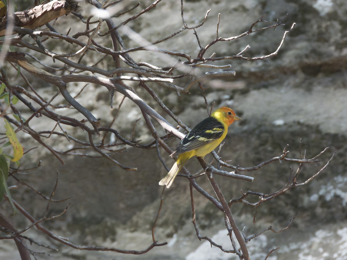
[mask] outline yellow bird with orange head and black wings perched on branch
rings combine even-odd
[[[195,125],[170,155],[171,157],[178,156],[177,161],[169,173],[161,179],[159,185],[166,185],[167,188],[170,188],[188,159],[193,156],[205,157],[206,154],[211,153],[226,137],[229,125],[236,120],[242,119],[232,109],[223,106]]]

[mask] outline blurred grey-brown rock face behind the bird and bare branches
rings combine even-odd
[[[142,1],[141,6],[150,1]],[[79,5],[84,6],[83,2]],[[215,107],[230,106],[243,121],[231,125],[226,144],[221,150],[223,158],[231,158],[232,164],[251,167],[274,156],[279,156],[289,144],[289,156],[299,157],[299,146],[306,150],[307,158],[314,157],[325,147],[329,150],[323,156],[324,165],[336,151],[329,167],[311,183],[297,188],[273,201],[264,203],[258,209],[255,225],[252,223],[255,209],[237,205],[232,212],[237,224],[245,226],[246,235],[260,232],[269,225],[281,229],[296,217],[293,226],[282,233],[264,233],[249,243],[251,259],[264,259],[268,252],[280,246],[268,259],[347,259],[346,227],[346,135],[347,135],[347,2],[342,0],[301,1],[187,1],[185,19],[188,24],[199,23],[208,9],[211,9],[205,25],[197,30],[202,45],[215,37],[218,13],[221,14],[219,34],[222,37],[235,36],[267,14],[264,19],[281,20],[287,14],[285,26],[276,30],[259,32],[231,41],[216,44],[213,51],[218,55],[232,55],[248,44],[247,56],[260,56],[274,52],[283,36],[293,23],[295,28],[285,40],[277,57],[248,62],[230,60],[236,76],[214,78],[205,90],[206,98]],[[86,10],[81,11],[86,12]],[[67,20],[68,18],[66,18]],[[74,18],[71,18],[74,19]],[[76,19],[76,18],[75,18]],[[64,25],[64,20],[58,20]],[[57,23],[58,23],[57,21]],[[68,20],[67,20],[68,21]],[[144,17],[136,19],[132,29],[146,40],[153,41],[182,27],[180,5],[177,1],[162,1]],[[136,45],[129,39],[129,45]],[[166,43],[166,49],[197,52],[196,38],[192,32],[183,34]],[[212,52],[212,50],[211,50]],[[143,53],[143,59],[148,59]],[[153,55],[160,63],[160,57]],[[110,65],[112,66],[112,65]],[[35,84],[35,79],[32,79]],[[39,84],[39,82],[37,82]],[[181,82],[177,85],[185,85]],[[98,118],[111,120],[112,111],[106,89],[94,87],[88,109]],[[50,86],[38,88],[40,94],[49,95]],[[141,90],[139,90],[141,91]],[[206,117],[205,103],[201,89],[194,86],[191,93],[178,98],[176,93],[157,89],[158,95],[188,126],[193,127]],[[97,93],[95,98],[95,93]],[[121,97],[115,97],[115,107]],[[97,103],[95,103],[97,102]],[[153,105],[153,104],[150,104]],[[117,130],[129,135],[140,112],[125,101],[125,110],[119,115]],[[108,116],[109,115],[109,116]],[[138,117],[137,117],[138,116]],[[38,124],[44,122],[38,122]],[[171,122],[173,123],[173,122]],[[149,140],[142,131],[144,122],[139,121],[136,135]],[[22,136],[25,147],[30,138]],[[300,141],[301,140],[301,141]],[[300,144],[301,143],[301,144]],[[177,141],[170,143],[174,148]],[[24,158],[33,166],[42,161],[42,166],[33,170],[24,180],[36,189],[50,194],[59,172],[57,198],[73,196],[67,213],[44,225],[54,233],[68,236],[70,241],[83,245],[112,246],[122,249],[141,250],[151,243],[151,228],[160,203],[162,187],[158,181],[166,174],[154,150],[129,148],[117,155],[119,161],[138,167],[137,172],[122,171],[107,159],[65,157],[62,166],[45,150],[33,150]],[[173,163],[168,156],[168,165]],[[127,162],[127,163],[126,163]],[[288,180],[289,166],[294,163],[272,163],[251,173],[253,183],[225,180],[218,177],[225,196],[240,196],[240,190],[271,193],[281,188]],[[196,160],[189,162],[190,169],[198,170]],[[300,180],[303,181],[319,171],[317,165],[305,165]],[[199,178],[199,184],[209,192],[209,183]],[[45,202],[29,190],[13,191],[13,197],[28,205],[27,210],[40,217]],[[195,195],[198,224],[203,235],[230,248],[220,212]],[[172,188],[164,194],[161,217],[156,227],[156,239],[168,241],[167,246],[157,247],[143,255],[124,255],[108,252],[84,252],[55,245],[58,252],[42,259],[237,259],[211,248],[208,242],[199,241],[191,223],[189,185],[186,179],[177,178]],[[35,205],[33,207],[33,205]],[[51,212],[59,213],[66,204],[52,205]],[[2,210],[10,210],[1,205]],[[15,216],[14,221],[27,225],[27,221]],[[43,243],[47,241],[39,232],[31,229],[31,236]],[[18,259],[12,241],[2,241],[0,256],[4,259]]]

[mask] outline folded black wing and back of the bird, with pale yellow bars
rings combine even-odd
[[[224,126],[217,119],[209,117],[202,120],[178,144],[171,157],[192,151],[209,142],[217,140],[223,135]]]

